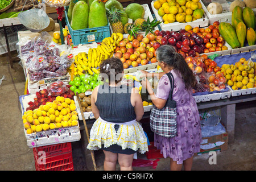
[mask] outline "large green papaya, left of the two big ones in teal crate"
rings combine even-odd
[[[80,30],[88,28],[89,7],[86,2],[79,1],[73,7],[71,28]]]

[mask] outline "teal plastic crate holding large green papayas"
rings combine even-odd
[[[68,17],[68,8],[69,6],[65,6],[65,17]],[[110,36],[109,22],[106,26],[103,27],[73,30],[68,21],[68,18],[66,18],[65,20],[74,46],[77,46],[79,44],[89,44],[92,42],[101,42],[104,38]]]

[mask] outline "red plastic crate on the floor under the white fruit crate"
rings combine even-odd
[[[36,171],[73,171],[71,142],[33,148]]]

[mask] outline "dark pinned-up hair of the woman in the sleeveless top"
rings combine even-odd
[[[101,81],[103,81],[105,77],[107,77],[109,80],[110,78],[114,78],[115,84],[117,84],[119,81],[122,80],[122,77],[118,78],[117,75],[121,74],[122,72],[123,72],[122,61],[115,57],[110,57],[109,59],[102,61],[100,65],[101,76],[105,75],[101,77]]]

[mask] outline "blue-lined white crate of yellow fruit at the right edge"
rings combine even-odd
[[[242,53],[236,53],[232,55],[215,57],[214,61],[216,61],[219,67],[221,67],[223,64],[235,64],[242,57],[244,57],[246,60],[249,60],[251,57],[251,53],[256,53],[256,50],[251,52],[242,52]],[[238,89],[238,90],[233,90],[230,86],[228,86],[228,88],[231,90],[232,97],[248,95],[248,94],[256,94],[256,88]]]

